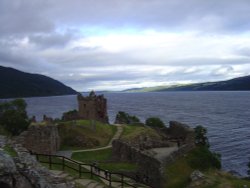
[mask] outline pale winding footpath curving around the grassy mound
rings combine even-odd
[[[117,127],[117,131],[114,134],[114,136],[111,138],[109,141],[108,145],[100,148],[94,148],[94,149],[82,149],[82,150],[64,150],[64,151],[57,151],[57,155],[61,155],[67,158],[71,158],[73,153],[77,152],[84,152],[84,151],[97,151],[97,150],[103,150],[103,149],[108,149],[112,147],[112,142],[118,138],[120,138],[122,132],[123,132],[123,126],[120,124],[114,124]]]

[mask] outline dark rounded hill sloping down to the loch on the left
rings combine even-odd
[[[76,91],[50,77],[0,66],[0,98],[71,94]]]

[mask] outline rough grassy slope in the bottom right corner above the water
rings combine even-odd
[[[200,152],[200,153],[199,153]],[[172,164],[166,166],[164,175],[164,186],[168,188],[176,187],[187,187],[190,184],[190,175],[194,170],[202,171],[208,183],[203,183],[199,186],[194,186],[194,188],[240,188],[243,185],[250,187],[249,180],[239,179],[228,173],[222,172],[213,166],[207,166],[208,163],[206,159],[203,158],[203,164],[199,162],[201,158],[201,153],[203,150],[200,148],[195,148],[187,155],[177,159]],[[198,161],[193,164],[194,161]],[[207,163],[207,164],[206,164]],[[205,165],[204,165],[205,164]],[[200,165],[200,167],[198,167]],[[193,187],[193,186],[192,186]]]

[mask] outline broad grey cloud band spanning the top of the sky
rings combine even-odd
[[[2,0],[0,34],[51,32],[91,26],[202,32],[250,29],[248,0]]]

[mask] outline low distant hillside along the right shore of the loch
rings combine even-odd
[[[125,91],[149,92],[149,91],[247,91],[247,90],[250,90],[250,76],[244,76],[219,82],[205,82],[205,83],[188,84],[188,85],[134,88]]]

